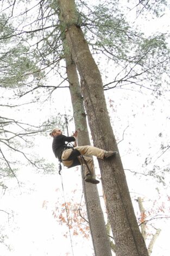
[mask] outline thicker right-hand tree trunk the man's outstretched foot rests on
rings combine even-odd
[[[92,58],[83,32],[75,20],[74,0],[59,0],[67,23],[66,39],[81,78],[93,143],[98,148],[118,150],[106,108],[100,72]],[[138,228],[121,158],[99,160],[106,207],[114,235],[117,256],[148,256]]]

